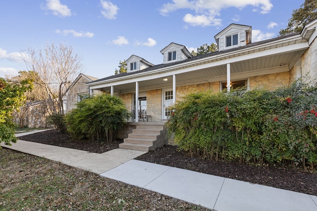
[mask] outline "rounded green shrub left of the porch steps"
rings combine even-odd
[[[115,140],[117,129],[128,117],[122,100],[105,93],[80,101],[66,115],[68,131],[73,138],[107,143]]]

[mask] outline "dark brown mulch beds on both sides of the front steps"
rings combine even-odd
[[[19,137],[21,140],[50,144],[60,147],[103,153],[118,148],[122,140],[110,145],[102,142],[83,142],[71,140],[69,135],[48,130]],[[191,158],[177,151],[175,146],[167,145],[150,151],[136,160],[188,169],[202,173],[242,180],[246,182],[306,193],[317,196],[317,172],[285,167],[250,166],[237,163],[212,162]]]

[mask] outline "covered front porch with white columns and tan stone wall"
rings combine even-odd
[[[230,91],[235,82],[244,83],[247,90],[292,83],[302,77],[301,57],[308,47],[298,35],[156,65],[88,85],[120,97],[128,110],[139,114],[131,122],[161,122],[170,116],[172,104],[192,92]]]

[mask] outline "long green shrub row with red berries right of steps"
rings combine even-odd
[[[317,164],[317,87],[200,92],[175,104],[166,123],[178,148],[214,161]]]

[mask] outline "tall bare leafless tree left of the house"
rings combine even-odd
[[[47,43],[44,49],[29,47],[23,59],[34,83],[41,86],[41,99],[50,114],[63,114],[62,97],[81,72],[81,57],[66,44]]]

